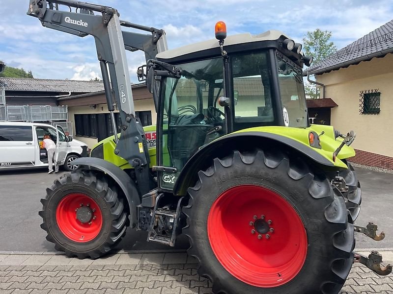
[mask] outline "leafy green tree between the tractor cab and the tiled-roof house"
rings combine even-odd
[[[323,31],[319,28],[314,31],[308,31],[304,36],[303,50],[305,55],[314,57],[313,64],[318,64],[337,51],[335,44],[330,41],[331,38],[331,31]],[[319,98],[319,88],[314,84],[306,84],[305,92],[311,98]]]

